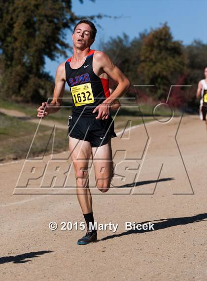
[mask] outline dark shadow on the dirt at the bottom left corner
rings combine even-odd
[[[28,258],[35,258],[38,257],[39,255],[43,255],[46,253],[51,253],[53,251],[39,251],[39,252],[30,252],[22,255],[17,255],[17,256],[8,256],[8,257],[2,257],[0,258],[0,264],[6,263],[6,262],[13,262],[13,263],[25,263],[31,260],[24,260]]]

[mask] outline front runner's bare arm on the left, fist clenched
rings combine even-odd
[[[48,114],[56,113],[60,110],[66,84],[65,77],[65,63],[62,63],[58,66],[56,71],[53,99],[49,104],[46,102],[42,103],[42,105],[37,109],[37,117],[44,118]]]

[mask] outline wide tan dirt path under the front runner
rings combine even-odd
[[[95,220],[119,226],[115,233],[99,231],[99,241],[86,246],[76,245],[84,231],[60,229],[63,221],[83,221],[75,189],[40,189],[39,177],[12,195],[24,161],[3,164],[0,279],[205,281],[207,135],[204,122],[196,116],[184,117],[177,131],[179,122],[180,118],[173,118],[169,123],[146,123],[148,141],[144,126],[112,140],[115,187],[107,194],[91,190],[96,193]],[[68,156],[55,155],[52,161],[69,166]],[[35,160],[34,174],[50,160],[49,156]],[[52,169],[46,170],[44,186],[52,181]],[[24,186],[31,171],[23,170],[19,186]],[[62,179],[52,186],[61,186]],[[93,183],[92,170],[90,186]],[[75,186],[73,169],[67,184]],[[58,223],[58,230],[49,230],[51,221]],[[126,221],[152,222],[154,231],[126,230]]]

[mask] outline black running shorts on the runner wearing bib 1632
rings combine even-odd
[[[108,119],[96,119],[95,116],[69,116],[69,133],[68,136],[85,140],[91,143],[92,147],[99,147],[111,138],[116,137],[114,132],[114,121],[111,116]]]

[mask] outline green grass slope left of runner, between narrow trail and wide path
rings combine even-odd
[[[35,123],[0,114],[0,161],[26,158],[33,139],[30,157],[50,154],[52,127],[40,125],[35,134],[36,128]],[[67,130],[56,129],[54,153],[68,149],[67,133]]]

